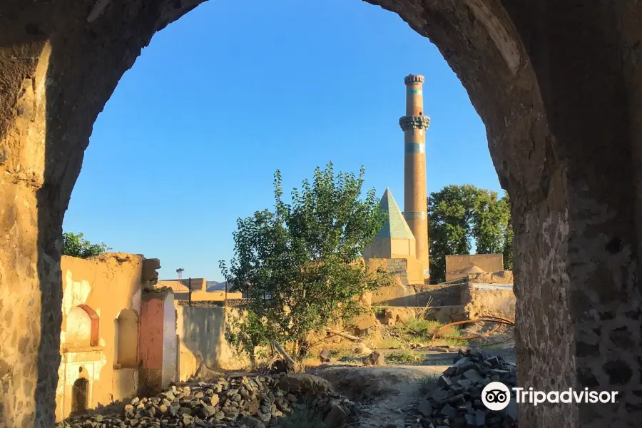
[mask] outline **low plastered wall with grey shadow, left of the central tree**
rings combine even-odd
[[[238,309],[176,305],[176,316],[180,380],[187,380],[201,365],[226,370],[248,367],[248,358],[225,340],[225,319],[240,317]]]

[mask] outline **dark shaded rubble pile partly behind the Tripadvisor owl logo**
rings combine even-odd
[[[515,397],[503,410],[494,412],[481,402],[481,391],[490,382],[516,386],[515,365],[480,350],[459,350],[454,365],[437,379],[427,396],[419,400],[412,428],[515,428]],[[514,393],[513,393],[514,394]]]

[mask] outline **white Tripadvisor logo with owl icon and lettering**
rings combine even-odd
[[[617,391],[574,391],[569,388],[565,391],[535,391],[533,388],[512,388],[515,392],[515,401],[518,404],[528,403],[534,406],[542,403],[614,403]],[[511,402],[511,389],[501,382],[490,382],[481,391],[481,402],[489,410],[503,410]]]

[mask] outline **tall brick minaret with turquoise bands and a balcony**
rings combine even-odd
[[[424,116],[424,76],[410,74],[406,83],[406,116],[399,119],[404,131],[404,218],[417,243],[417,260],[428,271],[428,213],[426,201],[426,133],[430,118]]]

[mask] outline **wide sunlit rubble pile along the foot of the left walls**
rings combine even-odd
[[[277,374],[174,384],[151,398],[134,398],[69,417],[56,428],[264,428],[295,410],[312,412],[328,427],[355,421],[360,404],[309,374]]]

